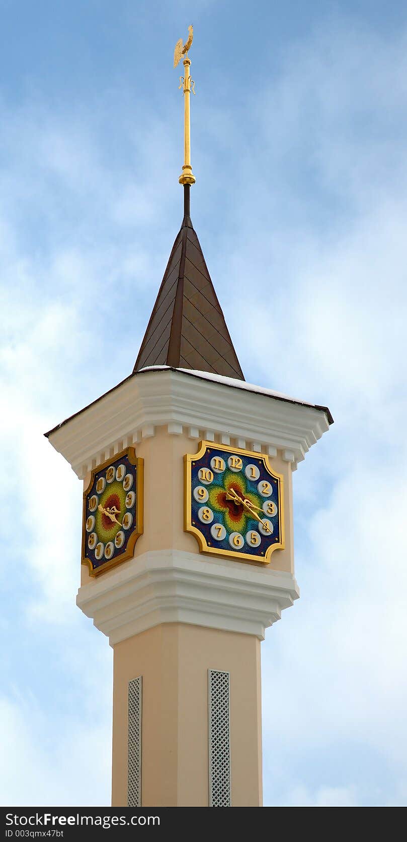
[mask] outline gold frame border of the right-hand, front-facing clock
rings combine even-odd
[[[236,552],[235,550],[222,550],[221,548],[217,549],[212,544],[208,544],[206,541],[205,536],[201,530],[197,529],[196,526],[193,526],[192,519],[191,519],[191,506],[192,506],[192,488],[191,488],[191,473],[192,473],[192,462],[197,461],[198,459],[203,456],[205,450],[207,448],[214,448],[216,450],[225,450],[228,453],[235,453],[237,456],[251,456],[253,460],[262,461],[263,465],[265,466],[267,472],[270,474],[271,477],[274,479],[278,479],[278,523],[280,527],[280,541],[278,544],[272,544],[266,550],[264,558],[259,556],[251,555],[250,553],[241,553]],[[270,564],[270,557],[274,550],[284,550],[285,549],[285,530],[284,530],[284,477],[283,474],[274,471],[269,457],[266,453],[256,453],[255,450],[244,450],[241,447],[232,447],[231,445],[221,445],[215,441],[206,441],[201,440],[198,443],[198,452],[197,453],[186,453],[183,457],[184,463],[184,506],[183,506],[183,519],[184,525],[183,529],[184,532],[191,532],[197,539],[199,545],[199,552],[209,552],[213,556],[226,556],[228,558],[238,558],[242,563],[250,563],[250,564]]]

